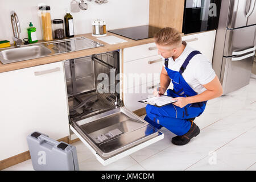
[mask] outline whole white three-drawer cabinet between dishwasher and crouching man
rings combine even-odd
[[[123,49],[123,102],[134,111],[145,107],[138,102],[152,96],[158,86],[162,59],[155,43]]]

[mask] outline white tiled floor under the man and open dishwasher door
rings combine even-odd
[[[256,170],[256,79],[225,96],[208,101],[195,119],[201,133],[185,146],[163,128],[164,139],[108,166],[102,166],[82,144],[77,147],[80,170]],[[32,170],[31,160],[5,170]]]

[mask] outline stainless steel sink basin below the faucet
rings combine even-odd
[[[50,49],[38,45],[6,49],[0,52],[0,57],[1,62],[7,64],[47,56],[51,53],[52,51]]]

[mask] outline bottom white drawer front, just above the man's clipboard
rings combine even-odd
[[[146,104],[138,101],[141,101],[148,97],[153,97],[154,89],[157,88],[159,82],[159,80],[155,80],[151,83],[123,90],[123,102],[125,107],[131,111],[146,107]]]

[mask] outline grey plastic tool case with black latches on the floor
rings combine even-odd
[[[39,132],[28,135],[27,143],[36,171],[79,171],[75,146]]]

